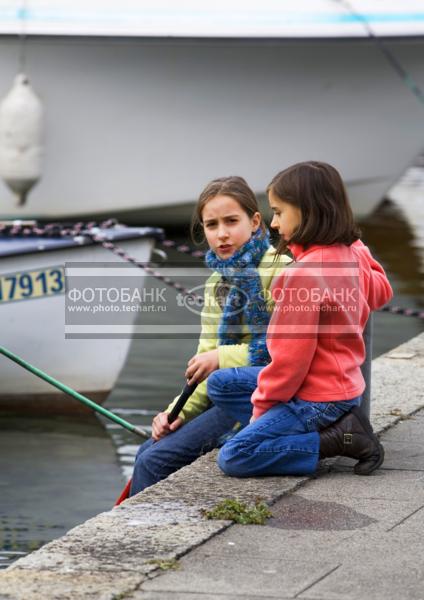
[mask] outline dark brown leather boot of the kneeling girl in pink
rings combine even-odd
[[[354,467],[357,475],[371,475],[383,463],[384,448],[359,407],[320,432],[320,458],[332,456],[358,459]]]

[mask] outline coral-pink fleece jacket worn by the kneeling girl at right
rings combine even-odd
[[[393,296],[383,267],[359,240],[290,250],[295,260],[272,290],[271,363],[252,396],[255,418],[293,396],[330,402],[362,394],[362,333],[370,311]]]

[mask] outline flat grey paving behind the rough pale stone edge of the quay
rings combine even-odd
[[[336,463],[276,502],[267,525],[233,525],[128,598],[422,600],[424,411],[382,440],[375,475]]]

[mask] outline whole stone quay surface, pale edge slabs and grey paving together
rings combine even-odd
[[[316,478],[234,479],[214,453],[0,573],[0,600],[424,598],[424,334],[373,361],[371,477],[346,459]],[[270,506],[265,526],[207,521],[224,498]],[[178,560],[163,571],[159,560]]]

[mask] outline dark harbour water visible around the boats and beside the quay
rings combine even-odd
[[[393,304],[423,309],[424,247],[414,214],[386,203],[361,228],[393,284]],[[168,256],[187,261],[175,251]],[[423,330],[423,320],[377,313],[374,356]],[[179,392],[195,349],[195,340],[133,340],[106,406],[149,427],[152,416]],[[131,473],[137,446],[133,435],[95,417],[84,423],[0,418],[0,568],[108,510]]]

